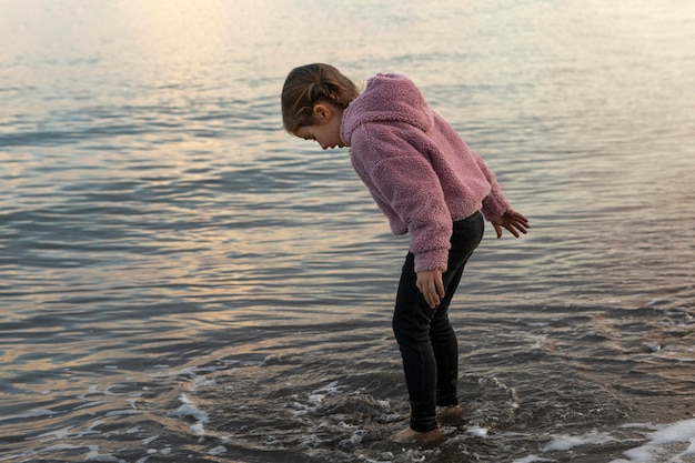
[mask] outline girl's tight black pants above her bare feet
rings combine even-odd
[[[411,427],[427,432],[437,427],[436,406],[457,405],[459,343],[449,321],[449,304],[463,269],[483,238],[480,212],[454,222],[449,268],[442,275],[445,296],[431,309],[415,282],[414,255],[407,253],[393,314],[393,332],[403,358],[411,403]]]

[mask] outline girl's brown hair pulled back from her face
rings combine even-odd
[[[345,109],[359,94],[357,85],[331,64],[294,68],[282,87],[282,124],[294,134],[300,127],[314,123],[316,103],[328,102]]]

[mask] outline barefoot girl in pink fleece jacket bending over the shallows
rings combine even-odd
[[[518,238],[528,220],[513,211],[495,175],[432,111],[407,78],[376,74],[362,94],[329,64],[293,69],[282,89],[288,132],[324,150],[350,147],[352,164],[395,234],[410,233],[393,331],[403,359],[410,426],[391,439],[436,441],[441,413],[459,415],[459,345],[449,305],[488,220]]]

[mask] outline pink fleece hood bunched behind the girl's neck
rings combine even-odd
[[[426,132],[434,124],[434,112],[409,78],[380,73],[343,113],[343,142],[350,145],[355,129],[367,122],[404,122]]]

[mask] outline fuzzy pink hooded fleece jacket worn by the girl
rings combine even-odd
[[[416,272],[446,270],[453,221],[479,210],[493,220],[510,208],[485,162],[403,76],[370,79],[340,134],[392,232],[411,234]]]

